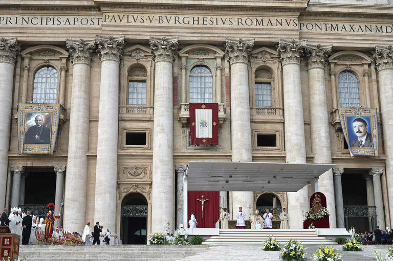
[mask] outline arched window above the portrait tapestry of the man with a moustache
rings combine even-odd
[[[360,107],[359,80],[350,70],[344,70],[338,75],[338,92],[340,107]]]

